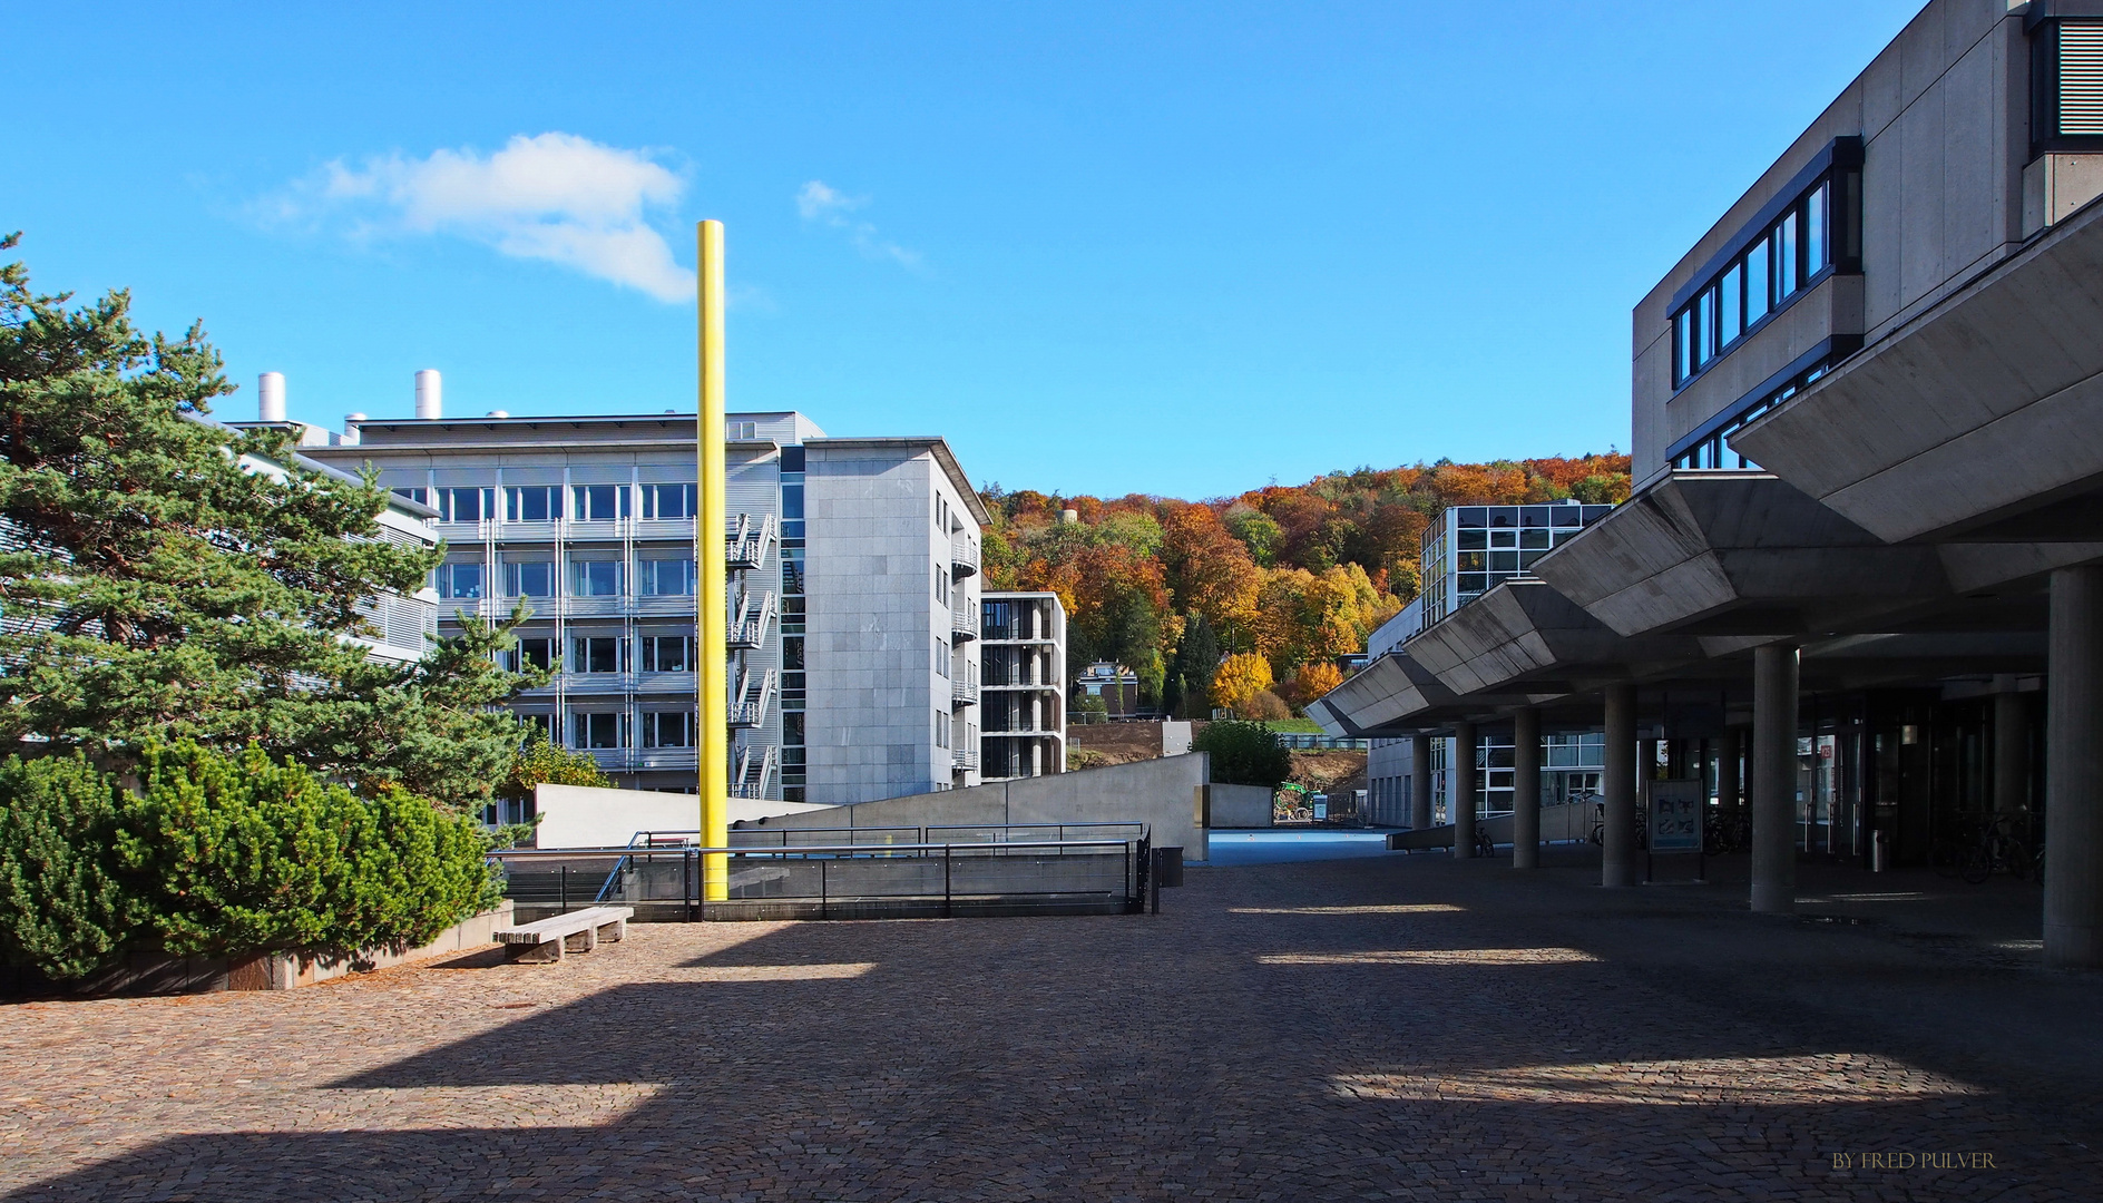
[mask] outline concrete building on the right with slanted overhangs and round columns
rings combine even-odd
[[[1636,305],[1636,496],[1319,717],[1605,728],[1602,883],[1663,774],[1750,812],[1756,911],[2042,839],[2046,961],[2103,963],[2099,82],[2092,4],[1922,8]]]

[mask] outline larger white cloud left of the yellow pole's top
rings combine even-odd
[[[351,215],[351,231],[440,233],[515,259],[545,259],[658,301],[690,301],[694,273],[646,210],[679,200],[686,181],[646,151],[564,132],[515,135],[484,158],[440,149],[427,158],[343,160],[267,202],[275,217]]]

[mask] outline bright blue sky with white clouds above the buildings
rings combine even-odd
[[[1888,42],[1832,4],[0,0],[0,229],[252,416],[730,404],[1218,496],[1628,446],[1628,311]]]

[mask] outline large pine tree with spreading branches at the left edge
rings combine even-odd
[[[479,810],[519,736],[492,707],[528,684],[492,660],[509,625],[366,660],[355,604],[440,553],[379,538],[370,480],[204,419],[233,389],[202,326],[145,337],[126,292],[67,301],[0,267],[0,745],[122,766],[147,740],[257,742]]]

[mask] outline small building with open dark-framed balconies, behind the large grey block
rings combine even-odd
[[[980,597],[980,780],[1066,772],[1066,608],[1058,593]]]

